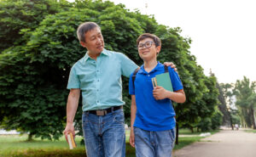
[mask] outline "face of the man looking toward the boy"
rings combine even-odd
[[[87,31],[85,34],[85,42],[80,42],[84,48],[87,48],[90,54],[102,53],[104,48],[104,40],[102,31],[96,27],[91,31]]]

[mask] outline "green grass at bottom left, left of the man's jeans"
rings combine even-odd
[[[78,144],[78,148],[69,150],[64,137],[59,141],[41,140],[35,138],[32,142],[26,141],[27,135],[1,135],[0,136],[0,156],[81,156],[84,154],[84,146]],[[82,137],[76,137],[77,142]]]

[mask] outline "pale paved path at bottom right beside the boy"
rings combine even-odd
[[[256,157],[256,133],[220,131],[174,151],[173,157]]]

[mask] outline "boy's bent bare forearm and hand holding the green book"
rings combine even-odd
[[[184,103],[186,101],[186,95],[183,89],[170,92],[167,91],[164,87],[155,87],[153,90],[153,96],[156,100],[169,98],[176,103]]]

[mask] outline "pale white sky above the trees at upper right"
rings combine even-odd
[[[111,0],[152,14],[161,25],[180,27],[192,39],[189,51],[209,76],[231,83],[256,81],[255,0]],[[146,8],[147,3],[147,8]],[[175,63],[175,61],[174,61]]]

